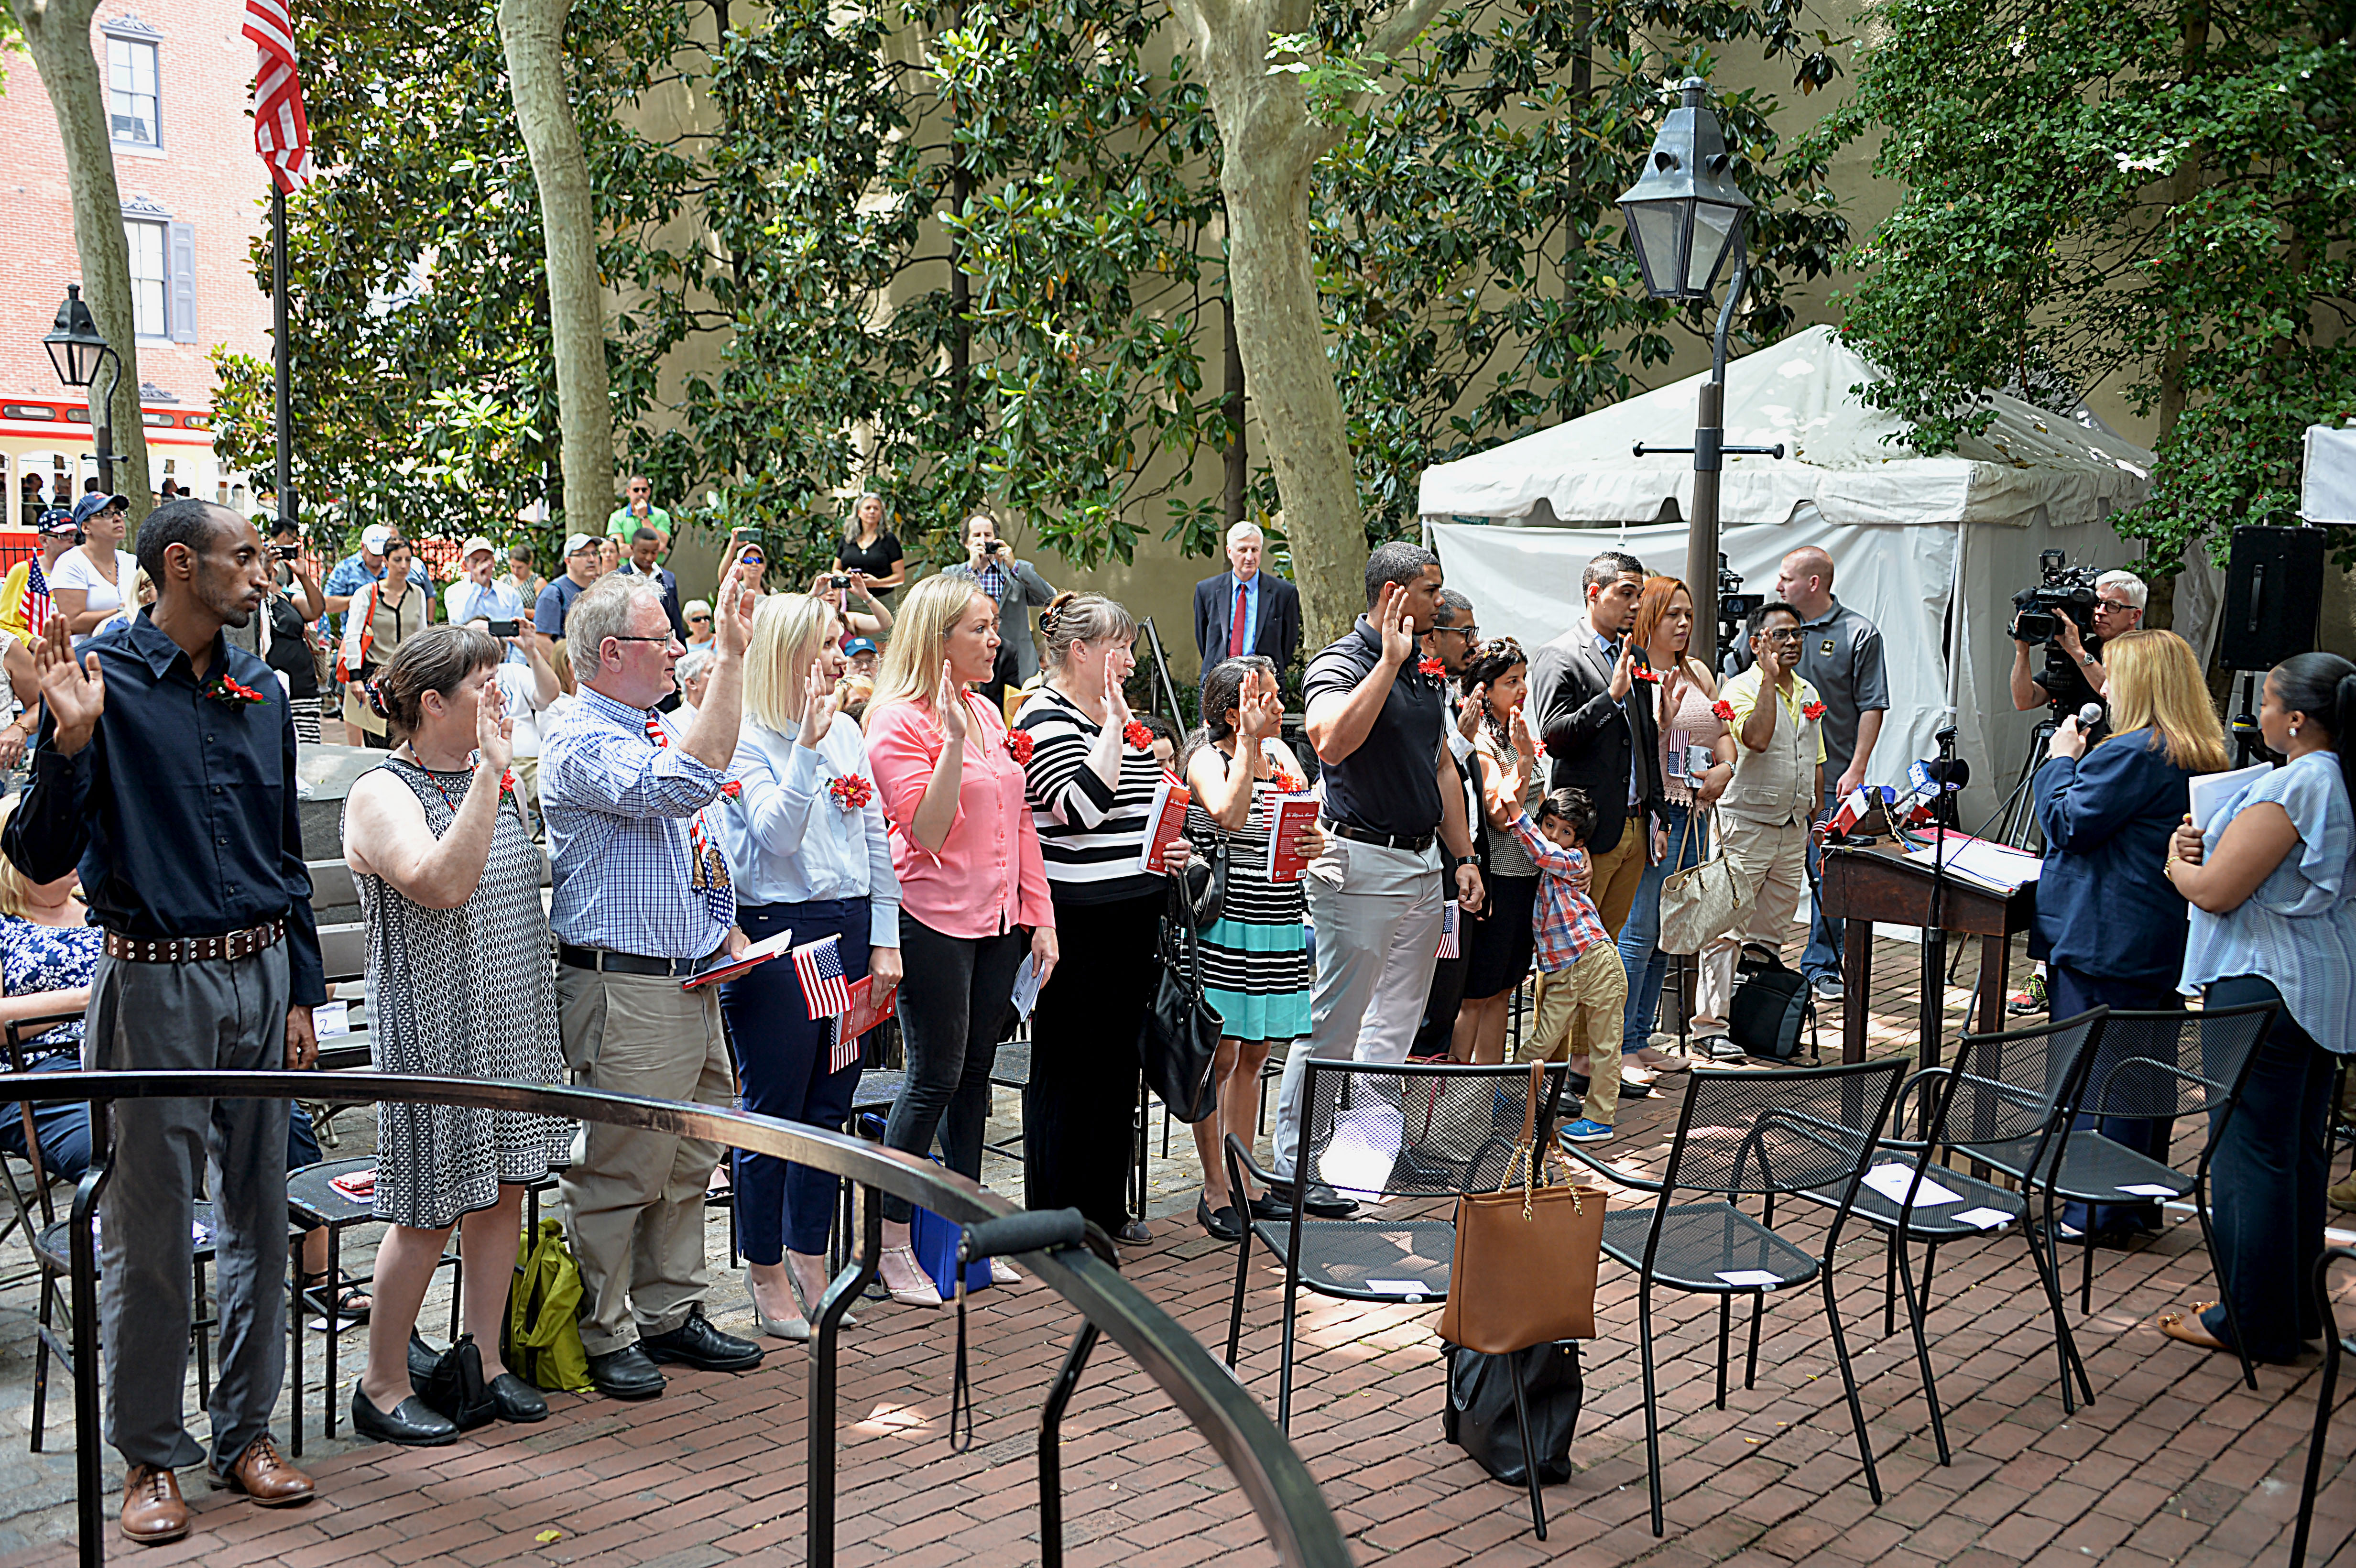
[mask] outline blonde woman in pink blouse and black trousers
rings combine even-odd
[[[1039,829],[1023,798],[1025,742],[1008,746],[994,704],[966,687],[990,678],[999,607],[966,579],[919,582],[867,704],[867,765],[884,796],[900,873],[900,1036],[907,1078],[884,1144],[926,1154],[940,1132],[949,1170],[980,1180],[982,1123],[999,1022],[1025,951],[1055,968],[1055,906]],[[884,1198],[884,1288],[940,1307],[907,1243],[909,1205]],[[999,1281],[1013,1269],[992,1264]]]

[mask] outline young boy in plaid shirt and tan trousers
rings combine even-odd
[[[1538,1017],[1515,1062],[1560,1062],[1564,1048],[1588,1059],[1588,1102],[1562,1140],[1600,1144],[1619,1114],[1621,1017],[1628,1010],[1628,970],[1619,944],[1588,897],[1588,833],[1595,803],[1586,791],[1557,789],[1513,819],[1513,836],[1538,862],[1538,904],[1531,913],[1538,963]]]

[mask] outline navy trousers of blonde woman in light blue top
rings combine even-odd
[[[843,954],[843,982],[867,975],[874,935],[867,925],[867,899],[737,904],[737,925],[754,942],[792,930],[794,946],[841,937],[836,946]],[[851,1097],[860,1088],[860,1064],[853,1059],[839,1074],[827,1071],[834,1019],[810,1017],[792,958],[770,958],[744,977],[723,982],[721,1017],[728,1019],[728,1043],[735,1050],[747,1111],[827,1132],[843,1130]],[[735,1220],[744,1260],[782,1262],[787,1245],[806,1257],[825,1255],[839,1191],[841,1184],[825,1170],[740,1149]]]

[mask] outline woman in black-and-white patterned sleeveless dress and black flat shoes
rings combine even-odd
[[[492,671],[497,638],[431,626],[370,683],[405,739],[344,805],[344,857],[368,918],[377,1069],[563,1083],[540,850],[507,772],[514,723]],[[457,1427],[410,1391],[408,1344],[434,1262],[459,1231],[464,1314],[504,1420],[549,1406],[499,1363],[523,1189],[573,1144],[554,1116],[434,1104],[377,1107],[377,1307],[353,1429],[438,1446]]]

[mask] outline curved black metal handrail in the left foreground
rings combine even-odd
[[[318,1088],[316,1071],[82,1071],[82,1074],[0,1074],[0,1104],[7,1099],[87,1099],[92,1128],[104,1125],[101,1107],[115,1099],[294,1099]],[[808,1483],[808,1563],[829,1568],[834,1561],[834,1347],[836,1328],[867,1281],[874,1278],[881,1253],[881,1205],[876,1191],[905,1198],[954,1224],[975,1224],[1020,1212],[1006,1198],[985,1191],[964,1175],[940,1165],[867,1144],[841,1132],[777,1121],[752,1111],[726,1111],[643,1095],[608,1095],[584,1088],[549,1088],[497,1083],[481,1078],[434,1078],[410,1074],[337,1074],[337,1088],[353,1102],[452,1104],[483,1111],[521,1111],[596,1121],[674,1137],[700,1137],[749,1154],[770,1154],[796,1165],[858,1182],[867,1191],[860,1257],[827,1288],[810,1340],[810,1431]],[[104,1476],[99,1474],[99,1401],[97,1401],[97,1260],[92,1257],[90,1212],[106,1184],[108,1165],[94,1163],[73,1198],[73,1384],[75,1384],[75,1481],[80,1507],[82,1563],[104,1561]],[[1253,1514],[1268,1530],[1277,1559],[1296,1568],[1350,1568],[1333,1514],[1301,1455],[1277,1431],[1242,1384],[1185,1328],[1124,1281],[1112,1264],[1086,1248],[1025,1253],[1030,1269],[1171,1396],[1211,1450],[1244,1488]],[[299,1403],[299,1401],[297,1401]]]

